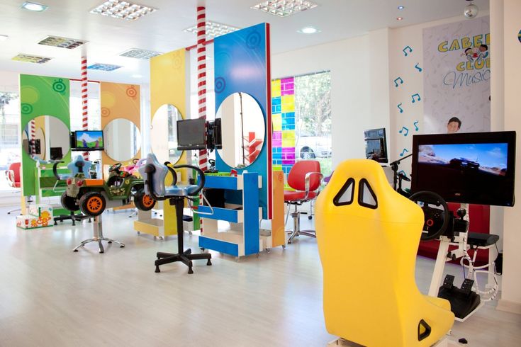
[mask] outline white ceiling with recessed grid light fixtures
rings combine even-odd
[[[37,0],[49,6],[35,13],[20,8],[23,0],[0,0],[0,70],[79,78],[82,48],[66,50],[38,45],[47,35],[87,40],[89,64],[94,62],[123,65],[114,72],[89,70],[89,79],[144,83],[148,80],[148,61],[119,57],[138,47],[169,52],[196,43],[196,35],[184,33],[196,24],[196,4],[206,2],[206,19],[245,28],[257,23],[271,24],[271,52],[279,53],[324,42],[363,35],[379,28],[435,21],[452,16],[464,18],[465,0],[313,0],[313,10],[279,18],[250,9],[261,0],[136,0],[157,8],[138,21],[89,13],[103,0]],[[128,0],[127,0],[128,1]],[[481,11],[488,11],[488,0],[475,0]],[[398,11],[398,5],[405,6]],[[396,21],[402,16],[403,21]],[[320,33],[304,35],[298,29],[312,25]],[[14,62],[18,53],[52,57],[46,64]],[[142,78],[132,77],[141,74]]]

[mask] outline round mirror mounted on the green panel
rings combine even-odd
[[[55,116],[39,115],[23,129],[22,145],[33,159],[62,159],[70,149],[69,128]]]

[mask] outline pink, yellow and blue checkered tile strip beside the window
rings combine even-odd
[[[295,79],[271,81],[273,168],[288,174],[295,164]]]

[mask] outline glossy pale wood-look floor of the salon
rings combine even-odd
[[[194,275],[179,263],[155,273],[155,253],[176,251],[177,239],[136,234],[128,212],[105,213],[105,236],[126,247],[99,254],[94,243],[71,251],[91,237],[87,222],[24,231],[7,210],[0,209],[0,346],[325,346],[334,339],[324,326],[315,239],[239,263],[212,252],[213,266],[196,261]],[[185,235],[197,249],[197,237]],[[417,265],[426,292],[434,262]],[[461,278],[459,267],[447,271]],[[489,304],[456,322],[453,335],[469,346],[521,346],[520,328],[520,315]]]

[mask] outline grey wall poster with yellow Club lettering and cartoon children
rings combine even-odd
[[[423,30],[425,133],[491,130],[490,48],[488,16]]]

